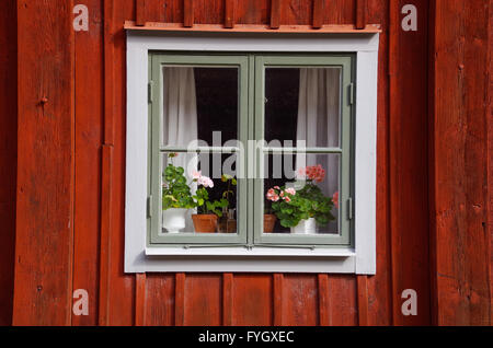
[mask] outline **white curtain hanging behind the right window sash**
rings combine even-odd
[[[297,146],[340,146],[341,69],[301,68],[298,100]],[[297,155],[297,167],[321,164],[325,179],[318,184],[325,196],[339,192],[339,156],[334,154]],[[334,208],[335,209],[335,208]],[[333,210],[336,214],[336,210]],[[329,230],[336,232],[336,223]],[[335,231],[334,231],[335,230]]]

